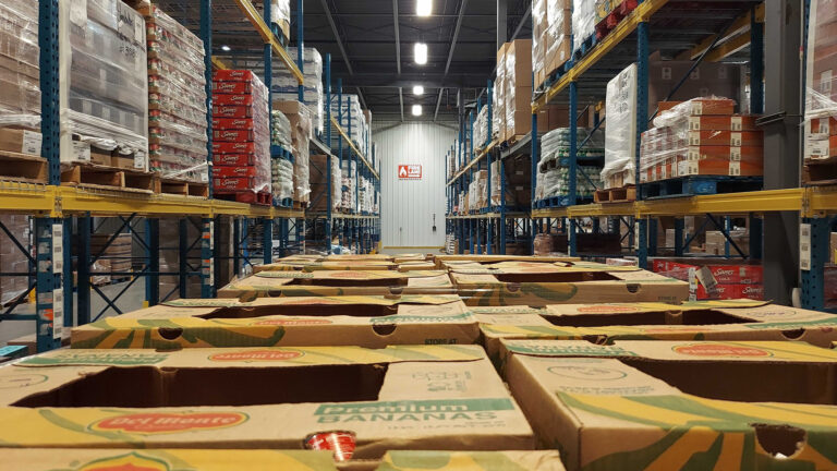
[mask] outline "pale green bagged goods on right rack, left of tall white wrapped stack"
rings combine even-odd
[[[577,130],[577,144],[580,145],[585,140],[587,143],[575,152],[575,195],[580,200],[589,200],[593,197],[596,189],[602,188],[599,165],[604,157],[604,136],[601,131],[591,135],[590,130],[585,128]],[[541,148],[542,155],[537,168],[538,173],[543,176],[537,181],[535,198],[569,196],[570,129],[559,128],[549,131],[542,137]]]

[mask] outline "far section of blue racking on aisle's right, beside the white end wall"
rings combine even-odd
[[[447,207],[447,233],[454,234],[461,243],[459,253],[464,253],[465,247],[470,253],[488,254],[495,253],[495,242],[497,253],[505,255],[507,243],[527,241],[531,239],[531,224],[529,208],[507,207],[506,197],[499,198],[498,205],[492,204],[492,165],[501,162],[500,169],[500,194],[510,193],[507,184],[505,162],[507,159],[520,155],[526,155],[529,150],[530,137],[521,140],[511,148],[500,148],[500,143],[492,138],[492,81],[487,84],[486,102],[477,100],[476,110],[471,110],[468,114],[468,121],[460,123],[459,143],[456,152],[457,168],[459,170],[448,180],[446,191],[448,197]],[[487,108],[486,142],[482,143],[483,148],[474,152],[474,113],[478,114],[482,108]],[[469,145],[465,146],[465,143]],[[488,178],[487,200],[488,207],[471,210],[468,215],[454,214],[453,206],[457,195],[468,188],[474,179],[474,172],[485,169]]]

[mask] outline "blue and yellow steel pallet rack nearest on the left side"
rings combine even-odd
[[[170,2],[172,3],[172,2]],[[296,67],[287,50],[280,45],[277,32],[271,31],[267,24],[270,22],[270,2],[265,2],[265,11],[262,16],[250,0],[215,1],[202,0],[199,4],[193,2],[179,3],[185,16],[196,16],[194,24],[187,27],[199,29],[199,37],[204,40],[206,61],[206,94],[207,94],[207,136],[208,149],[211,156],[211,74],[213,68],[223,68],[223,61],[213,57],[213,29],[223,28],[223,24],[214,23],[214,9],[227,8],[228,11],[239,12],[248,20],[265,44],[265,63],[272,63],[278,57],[284,67],[302,83],[302,70]],[[213,4],[215,3],[215,4]],[[226,4],[229,3],[229,4]],[[258,225],[262,228],[263,261],[270,263],[274,256],[284,255],[289,251],[299,250],[303,243],[302,233],[304,225],[304,210],[279,208],[269,206],[256,206],[211,197],[211,178],[209,179],[209,198],[196,196],[179,196],[170,194],[144,194],[123,192],[114,189],[88,189],[61,186],[60,170],[60,119],[59,109],[59,46],[58,46],[58,15],[59,0],[40,0],[39,3],[39,39],[40,39],[40,85],[41,85],[41,133],[44,144],[41,155],[49,165],[47,184],[0,182],[0,212],[25,214],[33,217],[33,243],[27,240],[17,240],[16,234],[7,234],[15,246],[31,261],[35,276],[31,274],[0,274],[0,276],[31,276],[29,289],[26,293],[11,303],[2,314],[0,321],[35,321],[37,350],[45,351],[61,346],[64,327],[85,324],[101,316],[92,315],[90,293],[96,291],[105,299],[107,309],[121,313],[117,306],[117,300],[137,279],[146,279],[146,303],[154,305],[167,293],[159,292],[160,276],[178,276],[180,278],[180,291],[185,295],[185,280],[189,277],[199,277],[201,294],[210,298],[215,294],[218,280],[215,277],[223,256],[218,253],[220,245],[219,233],[216,227],[220,217],[233,218],[232,256],[236,274],[251,264],[250,250],[247,247],[247,233],[250,228]],[[300,17],[302,13],[302,0],[298,1]],[[175,12],[177,13],[177,12]],[[186,22],[184,22],[186,23]],[[220,23],[220,22],[219,22]],[[302,21],[299,22],[300,43],[302,43]],[[300,49],[302,50],[302,49]],[[298,58],[302,64],[302,57]],[[266,84],[270,87],[270,69],[266,70]],[[302,95],[302,86],[300,86]],[[211,157],[208,161],[211,169]],[[209,171],[211,173],[211,170]],[[90,235],[93,233],[93,218],[118,219],[119,229],[107,241],[99,253],[90,251]],[[180,269],[172,273],[161,273],[159,267],[160,246],[159,224],[160,219],[179,220],[180,240]],[[142,220],[141,220],[142,219]],[[140,235],[140,225],[144,221],[144,235]],[[195,225],[198,237],[189,240],[186,230],[189,225]],[[73,254],[71,247],[74,244],[73,229],[77,232],[77,282],[73,281]],[[0,228],[4,229],[4,228]],[[277,231],[278,229],[278,231]],[[279,246],[275,250],[274,241]],[[130,273],[117,273],[116,276],[131,277],[124,289],[113,299],[109,299],[96,286],[90,283],[90,267],[102,255],[120,233],[132,233],[132,239],[140,245],[144,257],[132,257],[135,263],[141,263],[142,268]],[[292,234],[295,233],[295,237]],[[29,246],[34,253],[29,252]],[[189,259],[190,250],[199,247],[201,255],[196,259]],[[277,253],[278,252],[278,253]],[[137,259],[138,258],[138,259]],[[35,291],[35,313],[13,313],[15,307],[24,303],[31,291]],[[77,291],[76,305],[73,303],[73,291]],[[73,315],[74,307],[77,309]]]

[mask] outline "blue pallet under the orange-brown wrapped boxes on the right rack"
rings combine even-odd
[[[757,191],[762,177],[693,176],[643,183],[643,200]]]

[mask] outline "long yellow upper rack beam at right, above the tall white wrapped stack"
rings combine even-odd
[[[602,39],[587,56],[575,63],[575,65],[573,65],[572,69],[558,81],[558,83],[554,84],[541,97],[532,102],[532,113],[537,113],[541,108],[551,101],[556,95],[567,88],[570,85],[570,82],[578,81],[587,69],[602,60],[611,49],[630,36],[640,23],[647,22],[651,16],[666,3],[668,3],[668,0],[645,0],[640,3],[636,9],[622,20],[616,28],[607,35],[607,37]]]

